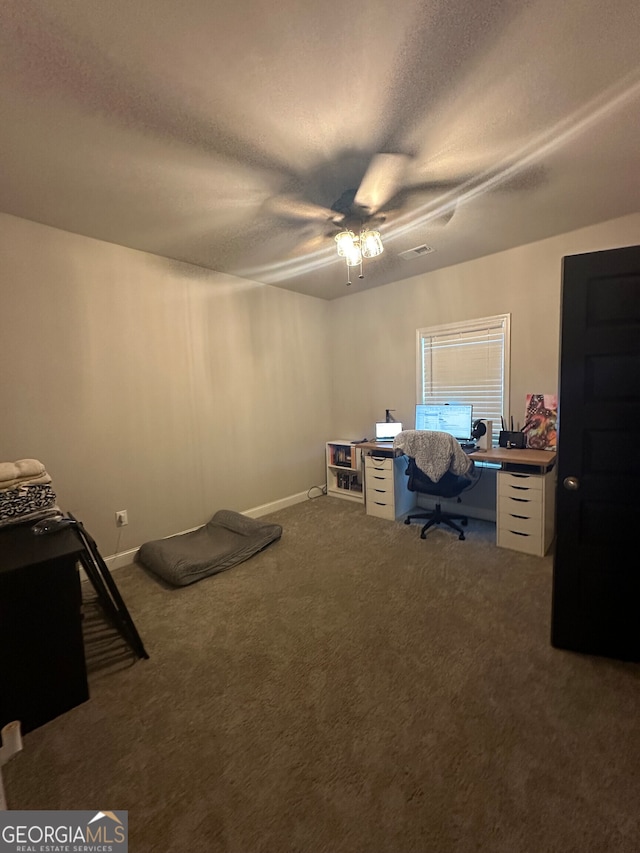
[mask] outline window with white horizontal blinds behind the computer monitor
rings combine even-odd
[[[510,314],[418,329],[417,401],[471,403],[474,421],[493,421],[498,444],[509,412]]]

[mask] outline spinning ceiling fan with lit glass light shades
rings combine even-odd
[[[277,195],[267,202],[268,210],[283,219],[298,222],[317,222],[329,225],[326,238],[336,241],[338,255],[350,267],[359,266],[363,278],[362,260],[383,251],[378,226],[391,215],[397,215],[410,195],[427,189],[442,188],[430,182],[404,184],[410,157],[406,154],[376,154],[371,159],[358,187],[342,192],[330,208],[322,207],[294,195]],[[451,185],[447,185],[450,189]],[[447,221],[453,215],[451,209]],[[317,246],[318,239],[313,241]],[[350,276],[347,284],[351,284]]]

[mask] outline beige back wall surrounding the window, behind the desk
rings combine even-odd
[[[413,427],[418,328],[507,313],[511,412],[522,423],[527,393],[558,391],[562,257],[638,242],[634,214],[334,300],[335,437],[370,437],[387,408]]]

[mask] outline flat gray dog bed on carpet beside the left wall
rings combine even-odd
[[[138,560],[168,583],[186,586],[242,563],[281,536],[279,524],[221,509],[198,530],[145,542]]]

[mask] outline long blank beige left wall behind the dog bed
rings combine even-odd
[[[331,432],[327,312],[0,214],[0,460],[44,462],[105,556],[306,494]]]

